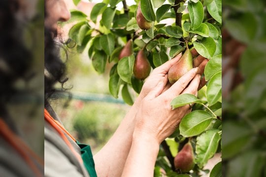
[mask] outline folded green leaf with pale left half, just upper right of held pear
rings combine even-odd
[[[199,55],[207,59],[211,59],[216,51],[216,43],[211,37],[203,38],[200,42],[193,44]]]

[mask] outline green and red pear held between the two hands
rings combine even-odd
[[[193,57],[187,46],[184,55],[172,65],[168,71],[168,80],[171,84],[175,83],[180,77],[186,74],[189,70],[193,68]]]

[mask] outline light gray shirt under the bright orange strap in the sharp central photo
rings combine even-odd
[[[50,106],[46,109],[54,119],[61,122]],[[48,122],[44,124],[44,137],[45,177],[89,177],[84,164],[78,161],[65,141]],[[66,137],[80,154],[79,146],[68,135]]]

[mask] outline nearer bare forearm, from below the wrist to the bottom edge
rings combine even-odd
[[[133,136],[122,177],[153,177],[159,143],[150,136]]]

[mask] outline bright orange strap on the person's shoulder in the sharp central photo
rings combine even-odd
[[[44,109],[44,118],[58,132],[58,134],[61,136],[61,138],[65,141],[68,148],[70,148],[70,150],[73,152],[73,154],[77,157],[79,162],[83,163],[83,160],[82,160],[80,154],[75,151],[75,149],[73,148],[71,143],[66,138],[66,135],[64,134],[64,132],[65,132],[74,142],[76,142],[76,140],[70,135],[70,133],[68,131],[66,131],[66,129],[61,125],[61,123],[59,123],[54,118],[52,118],[46,109]]]

